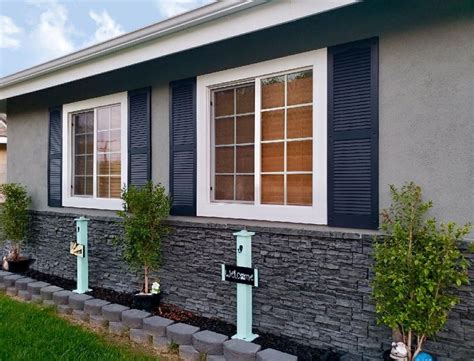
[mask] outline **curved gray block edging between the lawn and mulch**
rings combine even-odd
[[[297,361],[297,357],[274,349],[261,350],[255,343],[153,316],[119,304],[77,294],[35,279],[0,270],[0,292],[31,303],[54,307],[58,313],[89,322],[135,343],[149,344],[157,351],[179,347],[183,361]]]

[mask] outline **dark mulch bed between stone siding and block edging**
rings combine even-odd
[[[34,278],[38,281],[48,282],[55,286],[64,288],[65,290],[74,290],[76,282],[59,276],[53,276],[35,270],[29,270],[26,276]],[[133,294],[121,293],[114,290],[94,287],[88,292],[94,298],[100,298],[112,303],[119,303],[124,306],[132,307]],[[227,336],[233,336],[236,333],[235,325],[221,321],[216,318],[208,318],[196,315],[190,311],[186,311],[178,306],[171,304],[161,304],[160,307],[152,312],[155,315],[166,317],[177,322],[184,322],[189,325],[198,326],[203,330],[210,330],[222,333]],[[304,346],[296,343],[285,336],[276,336],[269,333],[259,332],[259,337],[253,341],[262,346],[262,349],[274,348],[282,352],[297,355],[300,361],[339,361],[341,354],[322,350],[315,347]]]

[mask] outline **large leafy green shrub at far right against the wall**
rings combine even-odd
[[[443,328],[459,302],[456,288],[468,283],[469,264],[458,242],[470,225],[438,225],[428,218],[432,202],[423,202],[413,182],[400,189],[392,185],[390,192],[392,205],[382,212],[385,236],[374,246],[373,297],[378,322],[400,335],[392,356],[388,351],[385,357],[412,361],[426,356],[420,354],[424,342]]]

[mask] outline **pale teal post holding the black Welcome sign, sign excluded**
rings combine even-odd
[[[234,233],[236,236],[237,266],[252,267],[252,236],[246,230]],[[252,333],[252,286],[237,284],[237,334],[232,338],[251,342],[258,335]]]

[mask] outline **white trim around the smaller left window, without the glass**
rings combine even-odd
[[[72,113],[96,109],[112,104],[120,104],[120,117],[121,117],[121,179],[122,186],[126,186],[127,180],[127,169],[128,169],[128,97],[126,92],[106,95],[103,97],[87,99],[75,103],[69,103],[63,105],[63,161],[62,161],[62,195],[63,195],[63,206],[73,208],[90,208],[90,209],[105,209],[105,210],[120,210],[122,209],[121,199],[108,199],[108,198],[93,198],[93,197],[78,197],[73,196],[71,192],[72,185]],[[95,111],[94,111],[95,113]],[[94,118],[96,118],[94,116]],[[96,123],[96,119],[94,119]],[[94,127],[94,139],[95,135]],[[95,145],[95,141],[94,141]],[[96,150],[94,149],[94,194],[96,184]]]

